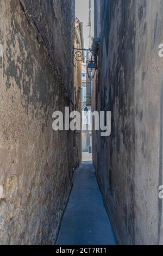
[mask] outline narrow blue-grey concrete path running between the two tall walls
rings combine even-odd
[[[116,244],[92,163],[81,164],[74,173],[74,185],[56,244]]]

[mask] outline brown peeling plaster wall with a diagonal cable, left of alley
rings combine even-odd
[[[73,97],[74,1],[25,3]],[[20,1],[0,1],[0,44],[0,244],[52,244],[74,154],[73,132],[53,131],[52,113],[70,99]]]

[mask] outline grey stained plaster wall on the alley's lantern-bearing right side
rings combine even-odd
[[[93,163],[121,244],[163,244],[161,0],[101,0],[93,110],[111,111],[111,136],[93,132]]]

